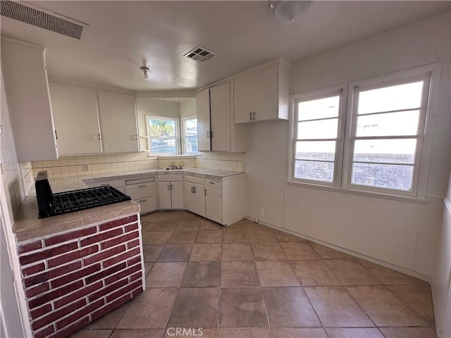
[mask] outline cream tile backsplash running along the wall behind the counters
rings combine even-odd
[[[61,156],[56,161],[33,161],[20,163],[25,192],[30,192],[37,173],[47,170],[49,178],[82,177],[127,171],[168,168],[206,168],[244,171],[243,153],[203,152],[199,156],[148,156],[147,152],[127,154],[99,154],[84,156]]]

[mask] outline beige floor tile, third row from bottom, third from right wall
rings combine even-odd
[[[291,261],[290,263],[304,287],[341,285],[321,259]]]

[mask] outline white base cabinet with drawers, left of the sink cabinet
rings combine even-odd
[[[154,176],[125,180],[125,194],[140,204],[142,215],[158,209]]]

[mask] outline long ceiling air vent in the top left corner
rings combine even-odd
[[[29,25],[79,40],[82,39],[87,27],[89,27],[85,23],[80,23],[25,2],[18,3],[16,1],[1,0],[0,12],[6,18],[28,23]]]

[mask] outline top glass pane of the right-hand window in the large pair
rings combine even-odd
[[[423,81],[359,92],[359,115],[419,108]]]

